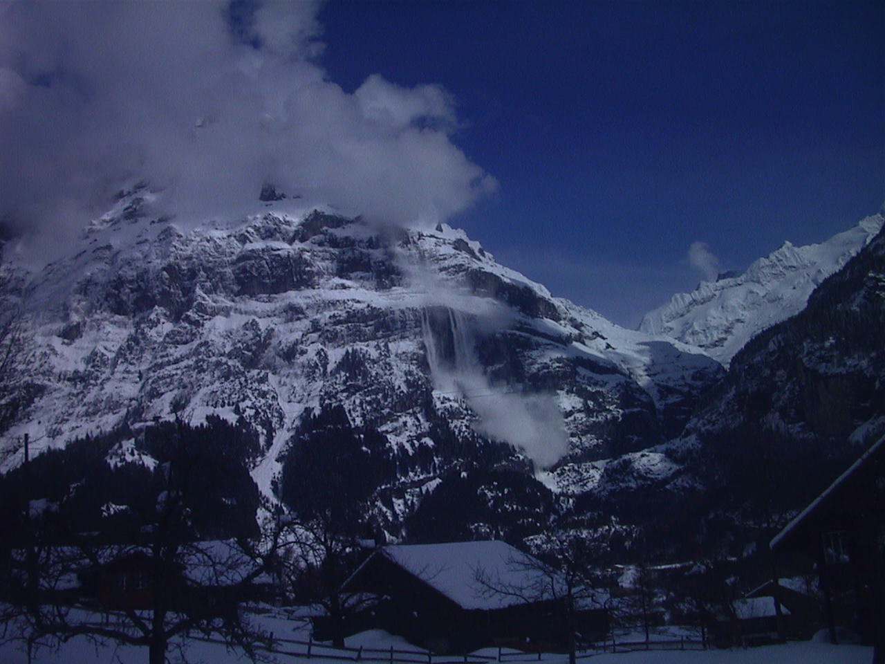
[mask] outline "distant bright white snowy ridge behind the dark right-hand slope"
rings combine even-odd
[[[755,261],[743,274],[701,282],[647,313],[640,329],[693,344],[723,364],[750,338],[805,307],[820,282],[834,274],[882,227],[883,212],[826,242],[789,242]]]

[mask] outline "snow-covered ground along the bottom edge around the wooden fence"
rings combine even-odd
[[[304,623],[283,620],[280,617],[261,616],[264,629],[273,631],[277,637],[306,639],[309,630]],[[407,644],[402,637],[396,637],[381,630],[371,630],[349,637],[346,645],[357,648],[417,650]],[[296,646],[293,646],[296,647]],[[195,639],[184,645],[184,652],[190,664],[246,664],[249,658],[242,652],[228,651],[224,645],[205,643]],[[316,652],[316,651],[314,651]],[[513,652],[513,651],[511,651]],[[476,654],[496,657],[497,649],[485,649]],[[181,661],[181,651],[171,649],[169,661]],[[445,658],[450,660],[451,658]],[[592,664],[868,664],[873,659],[873,649],[860,645],[829,645],[824,643],[801,642],[788,645],[766,645],[747,650],[708,650],[689,651],[650,651],[606,653],[592,655],[579,661]],[[146,648],[124,645],[95,645],[85,638],[76,638],[63,645],[58,651],[41,649],[35,652],[33,664],[143,664],[148,660]],[[565,664],[568,658],[561,654],[543,654],[545,664]],[[290,655],[266,655],[266,662],[273,664],[307,664],[318,660]],[[335,660],[322,660],[333,662]],[[343,661],[343,660],[342,660]],[[507,657],[507,664],[520,661],[538,661],[534,653],[525,658]],[[27,664],[27,652],[19,645],[0,646],[0,662],[3,664]]]

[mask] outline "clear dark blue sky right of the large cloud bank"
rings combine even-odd
[[[885,200],[885,4],[331,2],[321,64],[440,83],[500,182],[453,220],[555,295],[634,326],[698,280]]]

